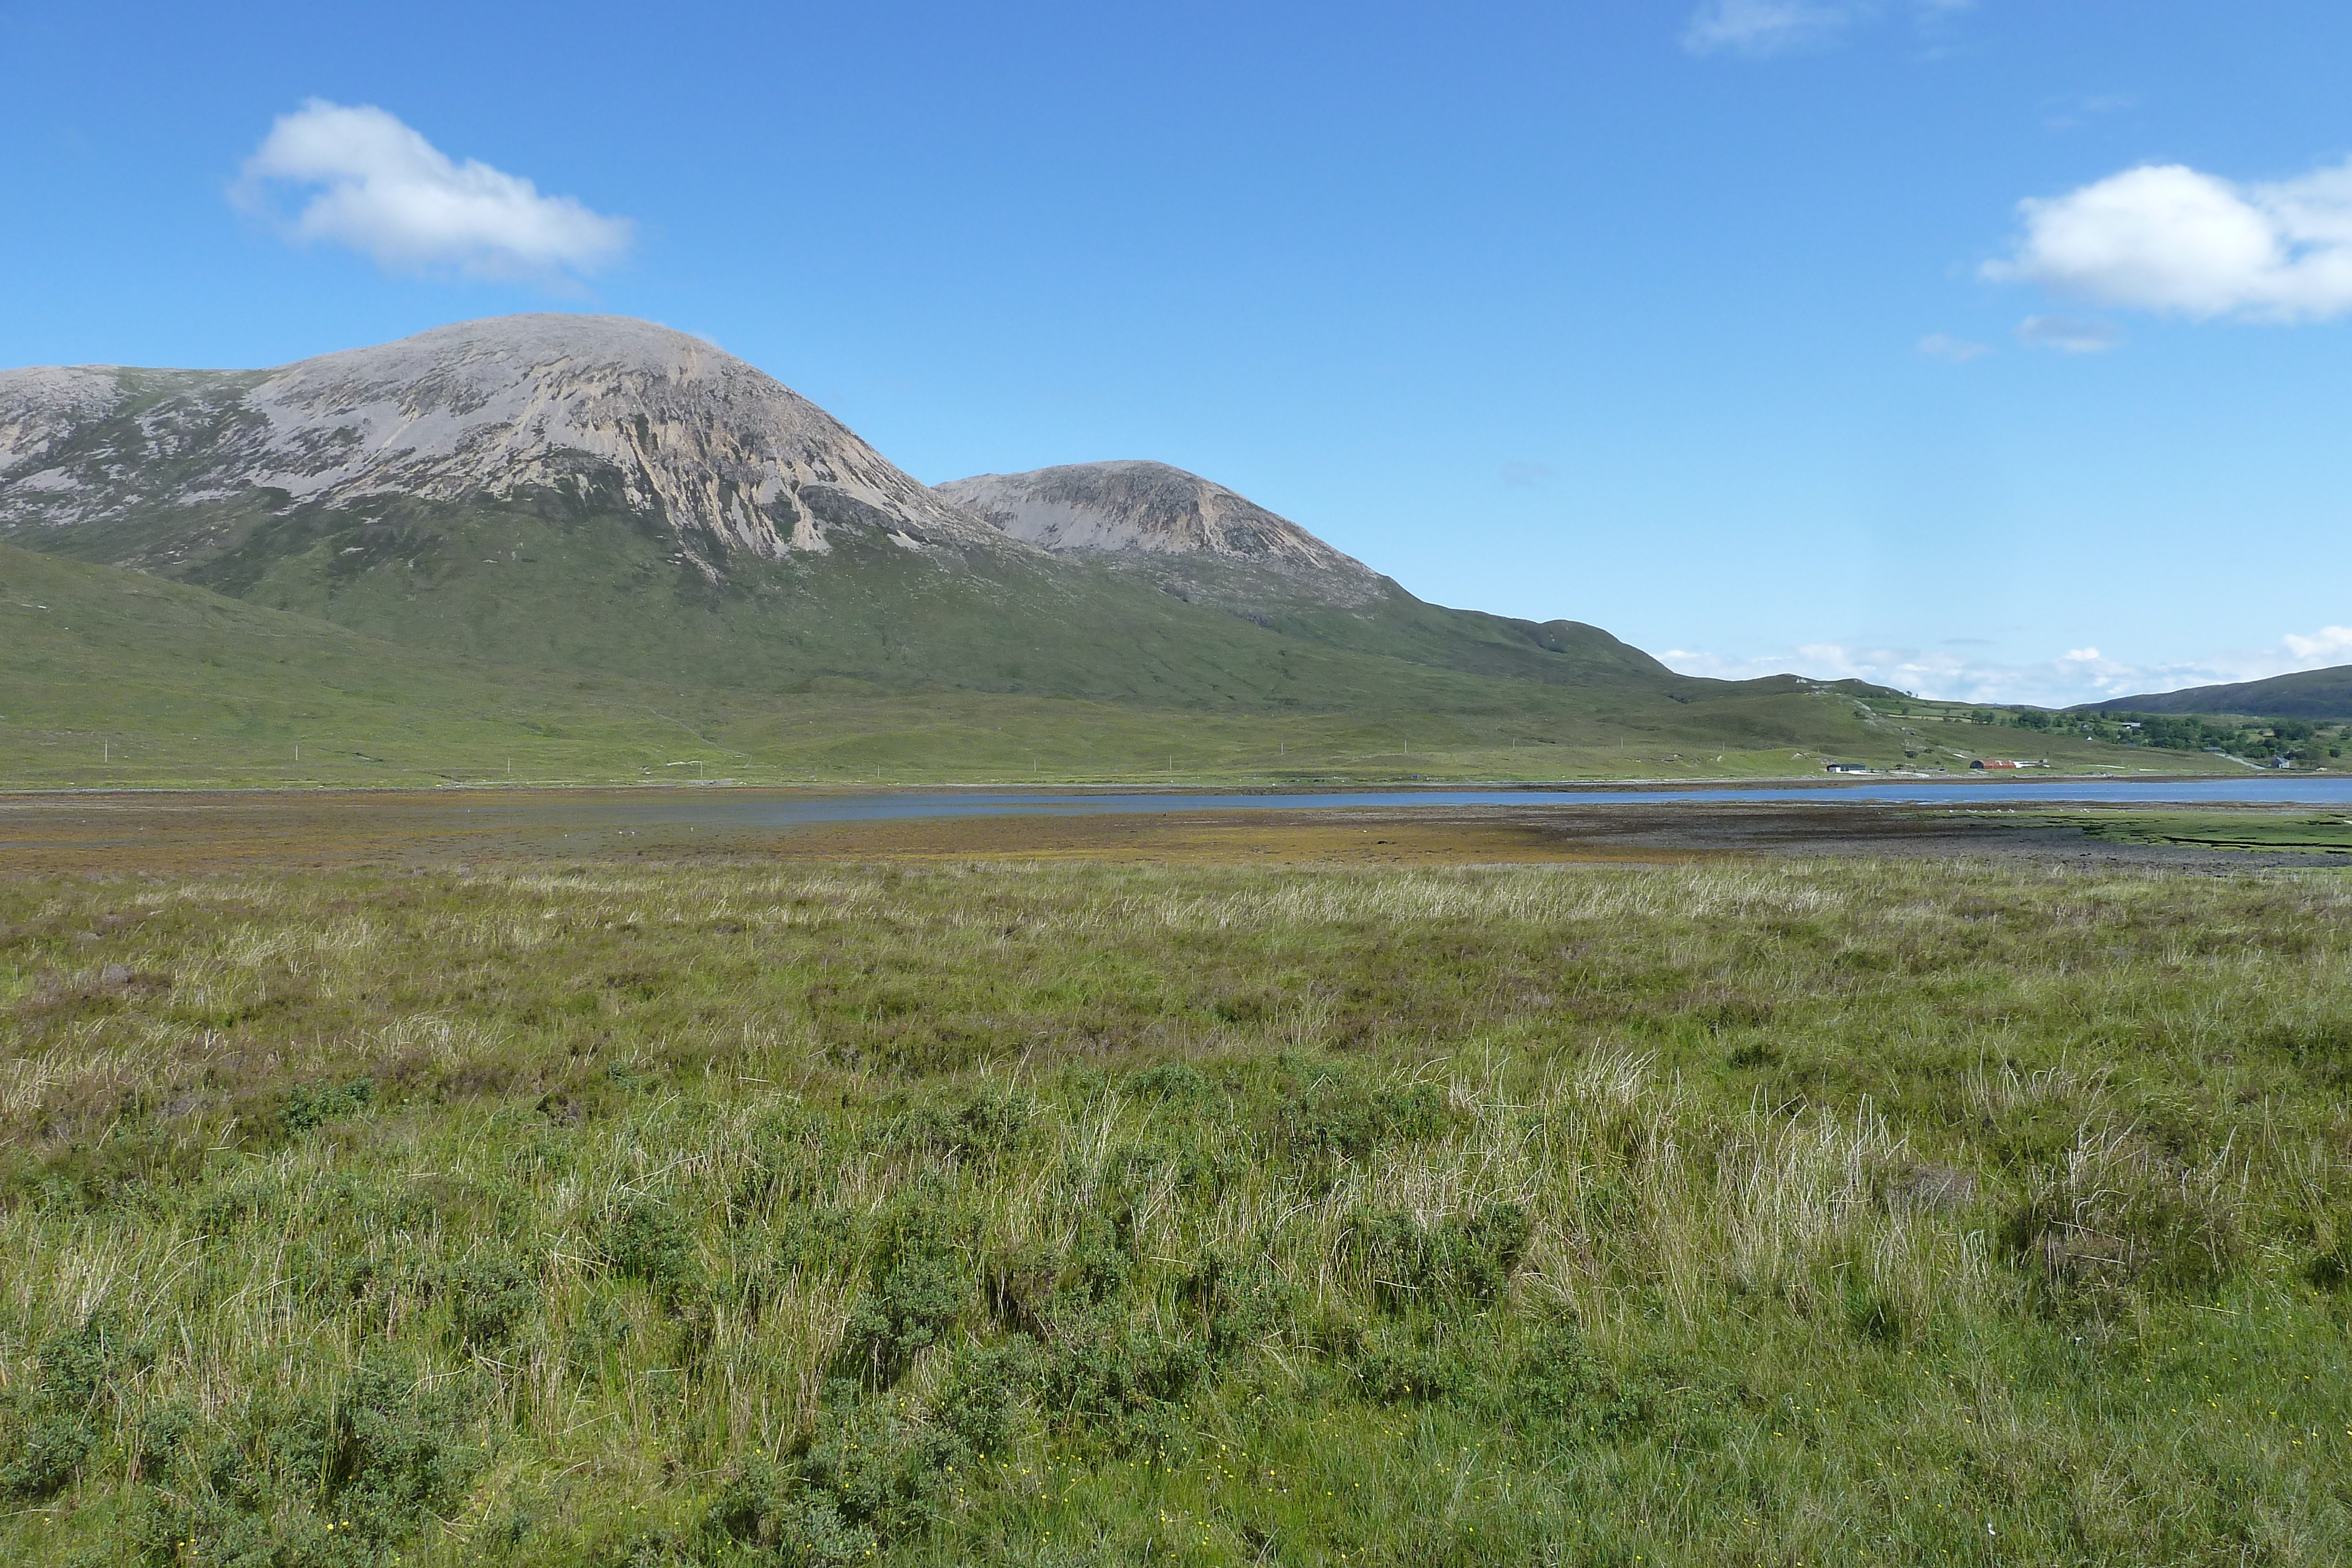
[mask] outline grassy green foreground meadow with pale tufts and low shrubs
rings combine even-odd
[[[2352,889],[0,884],[0,1559],[2333,1563]]]

